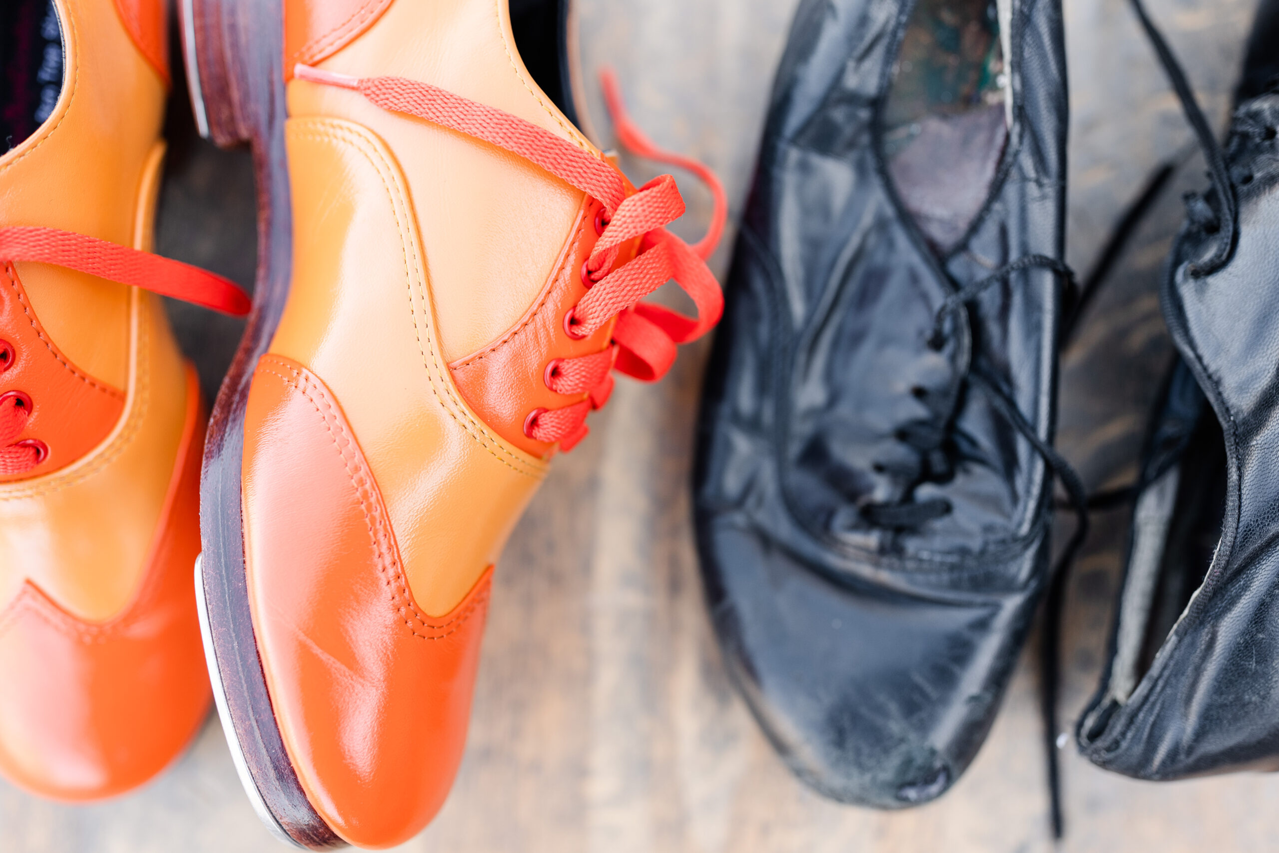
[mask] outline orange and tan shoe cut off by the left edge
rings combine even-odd
[[[191,596],[203,414],[148,254],[168,70],[159,0],[8,0],[0,125],[0,774],[129,790],[208,708]]]

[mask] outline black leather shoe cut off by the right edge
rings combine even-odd
[[[1140,779],[1279,767],[1279,1],[1265,0],[1214,188],[1163,283],[1156,411],[1101,688],[1078,726]],[[1201,139],[1202,139],[1201,134]]]

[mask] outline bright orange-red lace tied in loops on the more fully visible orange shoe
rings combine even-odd
[[[561,450],[570,450],[586,436],[587,413],[608,400],[614,367],[638,380],[656,381],[675,361],[677,344],[700,338],[719,321],[724,297],[706,267],[706,258],[724,230],[728,210],[724,189],[710,169],[663,151],[632,124],[611,73],[605,72],[602,82],[620,142],[640,156],[688,169],[711,189],[715,202],[711,226],[694,247],[665,229],[684,212],[684,200],[671,175],[654,178],[628,196],[622,174],[613,165],[496,107],[400,77],[357,78],[301,64],[293,74],[297,79],[354,90],[384,110],[413,115],[510,151],[604,206],[595,223],[599,239],[582,267],[582,281],[588,290],[564,316],[564,333],[574,339],[587,338],[616,317],[613,340],[599,353],[556,358],[546,366],[544,380],[550,390],[587,398],[556,409],[530,412],[524,419],[524,435],[530,439],[558,441]],[[615,266],[622,244],[634,238],[641,238],[638,253]],[[671,279],[693,301],[696,316],[640,302]]]

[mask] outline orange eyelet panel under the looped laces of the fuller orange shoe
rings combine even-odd
[[[501,338],[449,364],[458,390],[476,414],[506,441],[541,457],[550,455],[554,445],[524,435],[524,418],[528,413],[537,408],[572,405],[587,396],[568,396],[546,387],[546,366],[553,358],[600,352],[608,347],[615,325],[615,321],[609,321],[585,340],[573,340],[564,331],[564,315],[586,295],[582,263],[599,239],[595,215],[600,205],[591,200],[585,200],[582,205],[573,237],[564,247],[559,269],[546,283],[541,298]],[[618,263],[628,260],[628,254],[619,256]]]

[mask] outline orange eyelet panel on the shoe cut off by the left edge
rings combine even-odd
[[[14,353],[12,366],[0,372],[0,394],[18,390],[32,402],[27,428],[18,439],[49,445],[43,462],[26,473],[0,474],[0,482],[58,471],[106,439],[124,411],[124,391],[88,376],[63,356],[31,311],[12,263],[0,265],[0,341]]]

